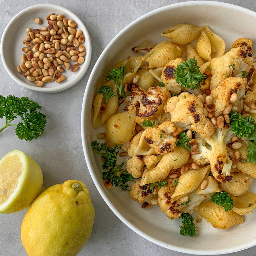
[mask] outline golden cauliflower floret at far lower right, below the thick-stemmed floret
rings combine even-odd
[[[239,171],[233,172],[232,176],[231,181],[219,184],[221,190],[233,196],[241,196],[247,193],[251,188],[253,177]]]

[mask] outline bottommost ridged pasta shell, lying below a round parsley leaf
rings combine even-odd
[[[196,212],[218,229],[228,229],[244,223],[244,218],[241,215],[232,210],[225,212],[222,206],[211,200],[200,203]]]

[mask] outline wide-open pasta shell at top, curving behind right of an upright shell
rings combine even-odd
[[[203,31],[206,33],[212,49],[214,49],[214,50],[211,50],[211,58],[221,57],[224,54],[226,49],[226,44],[224,40],[220,36],[214,34],[209,29],[208,26],[205,26]]]

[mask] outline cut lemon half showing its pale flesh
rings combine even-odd
[[[30,206],[42,192],[43,175],[34,159],[14,150],[0,160],[0,213]]]

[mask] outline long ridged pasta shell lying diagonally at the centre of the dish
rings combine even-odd
[[[189,151],[184,147],[176,147],[172,153],[164,154],[157,166],[145,170],[140,185],[159,182],[165,179],[170,170],[177,169],[188,162]]]

